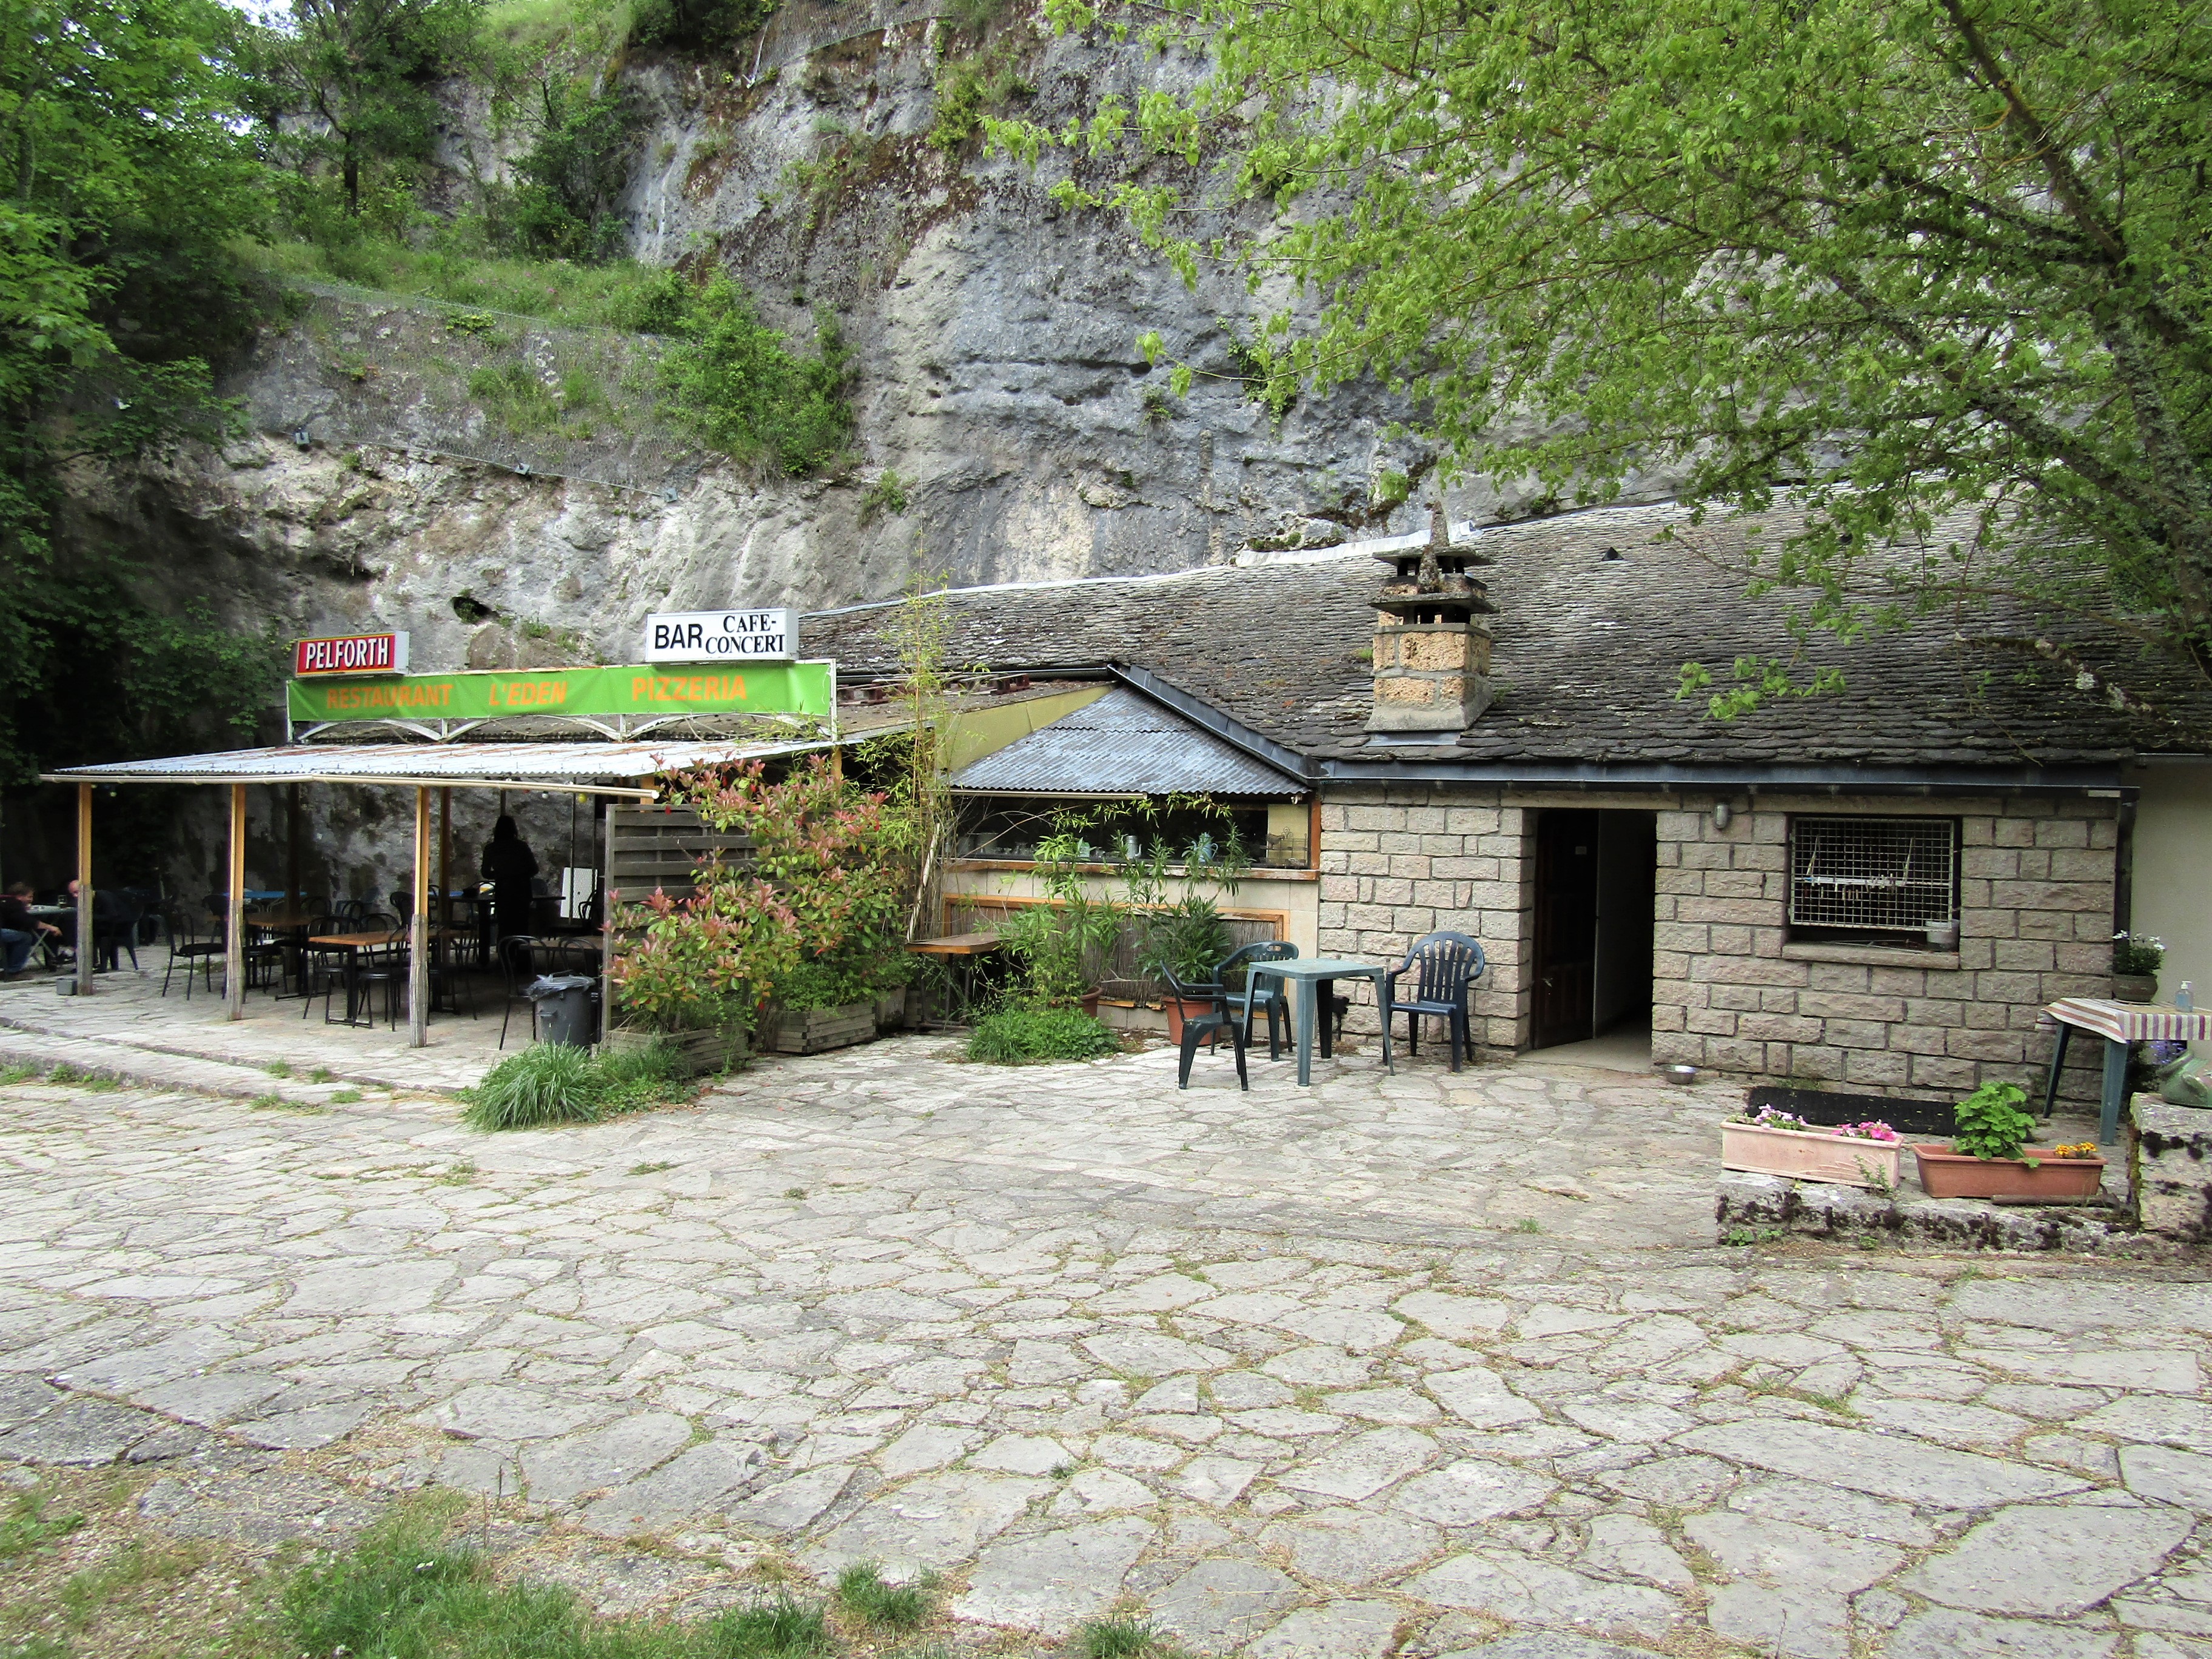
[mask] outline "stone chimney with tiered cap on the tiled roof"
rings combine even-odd
[[[1464,732],[1491,706],[1489,591],[1471,575],[1486,557],[1451,546],[1444,504],[1429,509],[1429,544],[1376,553],[1391,566],[1376,599],[1376,697],[1369,732]]]

